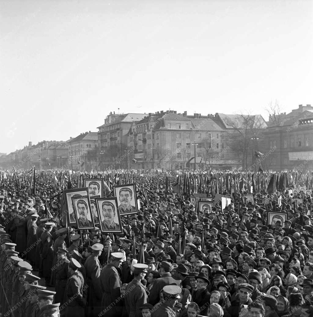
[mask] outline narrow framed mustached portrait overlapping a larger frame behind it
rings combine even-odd
[[[80,230],[94,229],[95,223],[92,217],[89,195],[72,197],[72,203],[75,210],[77,228]]]

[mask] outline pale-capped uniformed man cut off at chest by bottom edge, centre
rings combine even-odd
[[[156,304],[152,311],[152,317],[176,317],[173,310],[177,300],[180,298],[181,288],[176,285],[166,285],[163,287],[164,301]]]

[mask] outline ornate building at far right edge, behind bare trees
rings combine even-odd
[[[266,151],[264,160],[270,170],[313,169],[313,107],[299,105],[297,109],[269,126],[264,133]]]

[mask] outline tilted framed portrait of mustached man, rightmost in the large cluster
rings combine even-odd
[[[121,216],[138,213],[139,208],[135,184],[114,186],[114,194],[117,198]]]

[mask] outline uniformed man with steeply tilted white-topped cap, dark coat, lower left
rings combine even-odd
[[[65,290],[65,317],[84,317],[86,299],[83,294],[84,278],[78,271],[81,264],[71,258],[68,264],[68,281]]]

